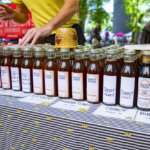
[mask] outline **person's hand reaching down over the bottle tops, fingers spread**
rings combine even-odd
[[[32,40],[31,45],[35,45],[44,37],[49,36],[51,32],[52,32],[52,28],[50,26],[29,29],[18,45],[25,46],[31,40]]]

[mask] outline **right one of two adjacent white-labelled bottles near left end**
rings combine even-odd
[[[23,61],[21,66],[22,91],[25,93],[33,92],[32,78],[32,50],[29,47],[23,48]]]

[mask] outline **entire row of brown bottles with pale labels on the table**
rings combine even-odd
[[[122,48],[82,48],[60,52],[50,47],[4,47],[4,89],[150,109],[150,52]],[[33,57],[34,56],[34,57]]]

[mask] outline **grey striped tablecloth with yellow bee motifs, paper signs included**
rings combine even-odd
[[[8,93],[0,91],[0,150],[150,149],[150,112]]]

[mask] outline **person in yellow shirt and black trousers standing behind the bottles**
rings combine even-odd
[[[78,35],[78,44],[83,45],[85,37],[80,19],[77,15],[78,0],[11,0],[16,3],[16,10],[0,4],[0,20],[11,20],[25,23],[28,20],[28,10],[32,14],[35,28],[29,29],[19,45],[37,43],[55,44],[55,33],[59,27],[75,28]],[[40,42],[39,42],[40,41]]]

